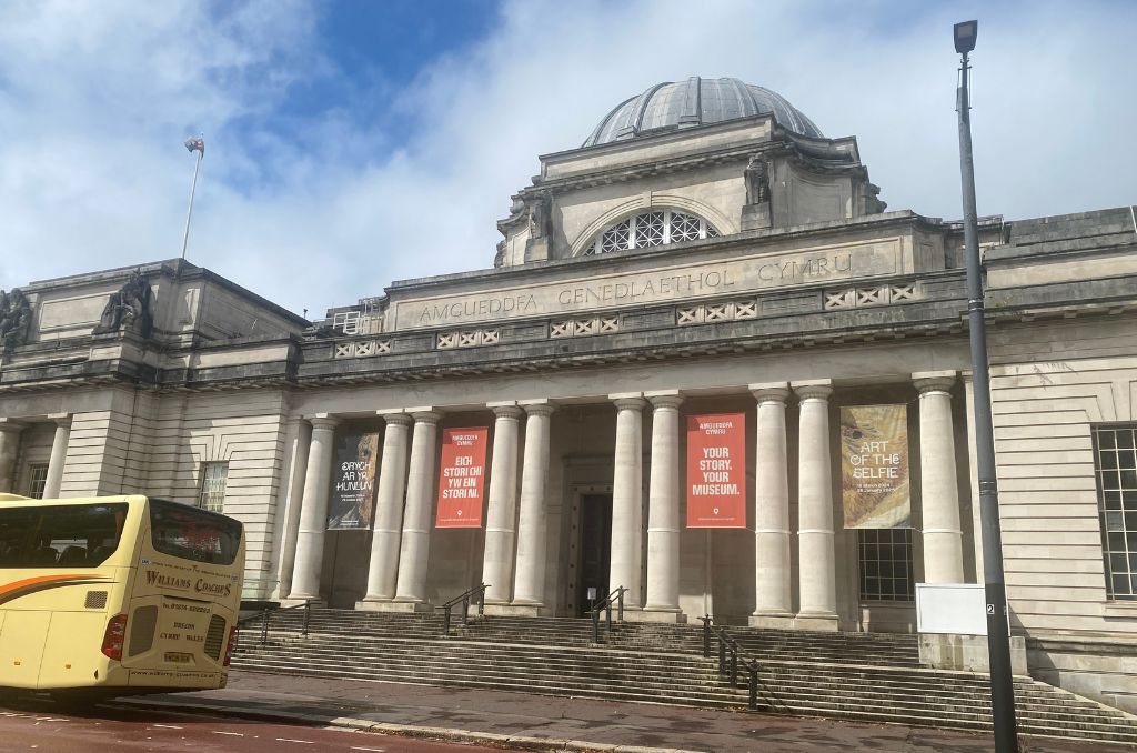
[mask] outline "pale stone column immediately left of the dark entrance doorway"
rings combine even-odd
[[[522,402],[525,408],[525,457],[521,467],[521,513],[517,520],[517,572],[513,603],[545,605],[546,519],[549,482],[549,416],[547,400]]]

